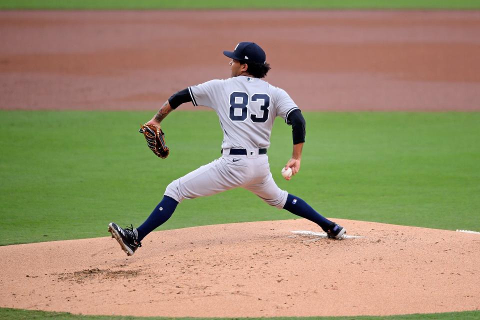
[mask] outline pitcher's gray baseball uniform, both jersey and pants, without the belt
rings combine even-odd
[[[281,116],[286,121],[288,114],[298,109],[293,100],[268,82],[242,75],[190,86],[188,91],[193,105],[211,107],[218,114],[223,129],[223,153],[172,181],[164,194],[180,202],[243,187],[268,204],[282,208],[288,192],[276,185],[268,157],[258,154],[258,149],[270,146],[274,118]],[[246,149],[246,155],[230,155],[231,148]]]

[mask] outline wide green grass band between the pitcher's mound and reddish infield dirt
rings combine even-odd
[[[216,114],[177,111],[163,122],[170,156],[155,157],[137,132],[151,114],[0,111],[0,244],[138,225],[170,181],[220,156]],[[290,127],[273,127],[268,155],[282,189],[329,217],[480,231],[480,112],[304,115],[301,170],[290,181],[280,176]],[[159,229],[287,218],[296,216],[234,189],[183,201]]]

